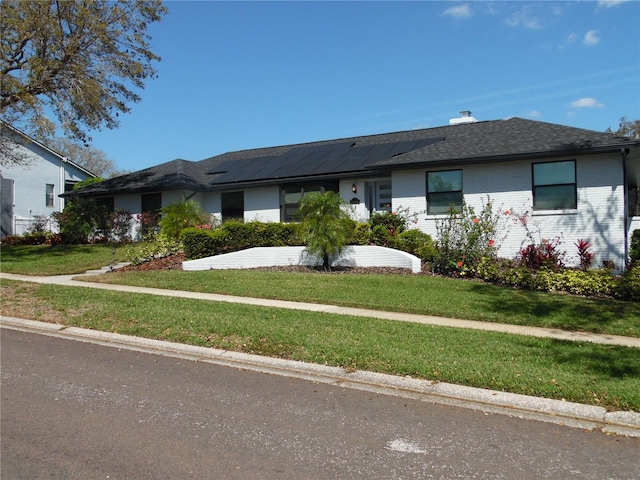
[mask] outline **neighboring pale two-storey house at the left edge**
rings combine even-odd
[[[7,123],[0,122],[2,136],[9,139],[12,155],[20,165],[0,165],[0,238],[22,235],[35,217],[48,217],[64,209],[60,194],[87,178],[88,170],[35,141]]]

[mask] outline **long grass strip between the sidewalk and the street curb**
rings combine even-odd
[[[30,318],[66,325],[640,411],[640,349],[9,280],[0,285],[5,314],[28,308]]]

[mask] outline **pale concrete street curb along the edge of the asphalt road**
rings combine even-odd
[[[470,408],[485,413],[509,415],[590,431],[600,430],[608,434],[640,438],[640,413],[638,412],[607,412],[603,407],[561,400],[361,370],[352,371],[340,367],[262,357],[14,317],[0,317],[0,326],[12,330],[39,333],[196,362],[299,378],[343,388]]]

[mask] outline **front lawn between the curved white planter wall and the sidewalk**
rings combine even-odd
[[[638,302],[516,290],[426,275],[172,270],[115,272],[87,280],[640,337]]]

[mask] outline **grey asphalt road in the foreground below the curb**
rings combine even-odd
[[[638,479],[640,440],[1,330],[1,477]]]

